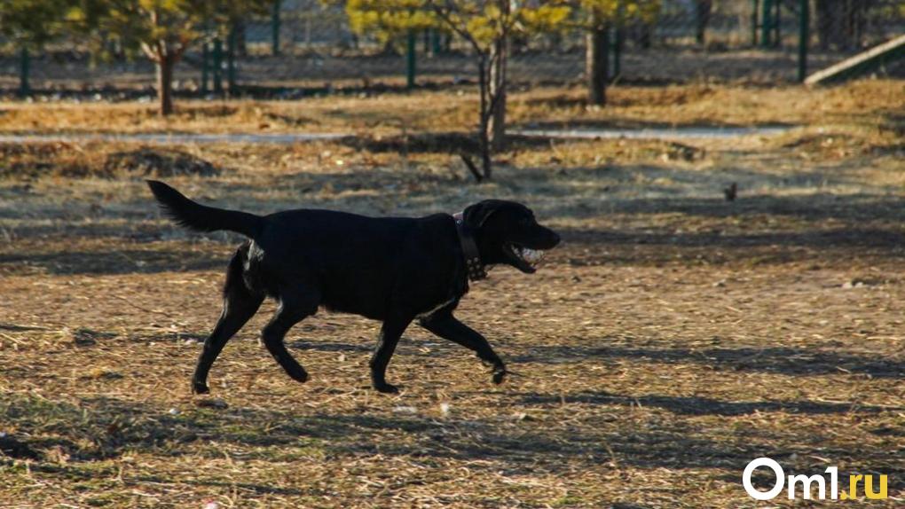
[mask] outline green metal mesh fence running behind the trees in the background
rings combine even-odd
[[[793,83],[905,33],[900,0],[662,0],[650,24],[610,33],[609,75],[623,83],[696,80]],[[514,40],[511,80],[529,85],[581,83],[585,33]],[[78,40],[43,51],[0,45],[0,94],[140,98],[152,92],[148,61],[98,61]],[[472,79],[468,47],[431,31],[382,44],[352,33],[341,7],[281,0],[271,14],[211,37],[176,67],[176,93],[197,97],[297,98],[330,90],[440,86]],[[902,65],[877,72],[902,76]]]

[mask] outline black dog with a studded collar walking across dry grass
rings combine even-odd
[[[468,280],[484,266],[506,264],[535,271],[538,253],[559,236],[540,226],[524,205],[487,200],[461,216],[369,218],[346,212],[297,210],[258,216],[195,203],[161,182],[148,181],[157,201],[177,223],[195,231],[236,231],[248,237],[229,262],[224,309],[198,359],[192,389],[205,393],[207,372],[224,344],[245,325],[266,296],[280,306],[264,326],[262,342],[295,380],[308,372],[283,344],[292,325],[319,306],[383,321],[371,357],[371,381],[381,392],[386,365],[399,337],[415,318],[433,334],[470,348],[493,366],[500,383],[506,367],[484,337],[452,316]]]

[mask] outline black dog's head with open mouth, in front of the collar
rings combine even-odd
[[[559,243],[559,235],[538,224],[521,203],[484,200],[466,207],[462,222],[474,232],[484,265],[504,263],[531,274],[543,251]]]

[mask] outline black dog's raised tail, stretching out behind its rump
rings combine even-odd
[[[264,226],[264,218],[259,215],[195,203],[176,189],[156,180],[149,180],[148,186],[164,212],[177,224],[191,230],[228,230],[254,239]]]

